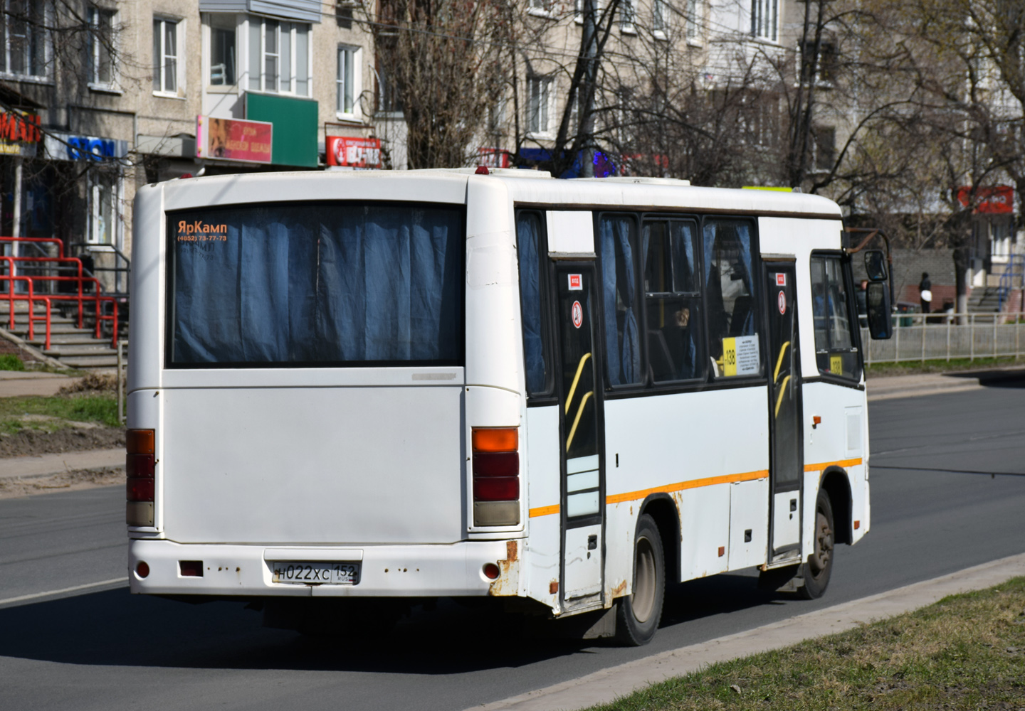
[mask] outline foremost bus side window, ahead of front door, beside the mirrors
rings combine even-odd
[[[838,256],[814,256],[812,317],[815,321],[815,361],[819,373],[861,380],[861,362],[855,345],[854,303]]]

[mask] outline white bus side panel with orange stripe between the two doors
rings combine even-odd
[[[606,401],[606,491],[630,512],[609,509],[606,580],[631,578],[638,506],[656,493],[668,494],[682,517],[681,579],[726,570],[726,482],[768,475],[768,407],[765,385]],[[762,505],[768,512],[768,497]]]

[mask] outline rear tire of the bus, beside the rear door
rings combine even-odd
[[[616,639],[627,646],[650,642],[658,631],[665,598],[662,537],[647,513],[638,519],[633,537],[633,586],[616,609]]]

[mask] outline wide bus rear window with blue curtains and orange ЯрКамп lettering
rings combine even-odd
[[[462,362],[459,208],[205,208],[168,235],[172,367]]]

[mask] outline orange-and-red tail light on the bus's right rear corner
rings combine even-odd
[[[520,430],[475,427],[474,526],[520,524]]]

